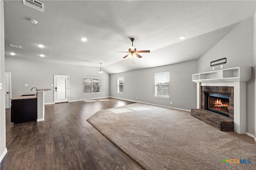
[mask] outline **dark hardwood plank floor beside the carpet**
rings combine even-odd
[[[7,154],[1,170],[143,170],[86,121],[96,111],[132,104],[102,102],[45,105],[45,120],[14,125],[6,109]]]

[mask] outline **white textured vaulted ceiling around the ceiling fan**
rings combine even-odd
[[[97,67],[102,63],[110,74],[199,59],[256,10],[254,0],[40,2],[44,12],[22,0],[4,1],[5,55]],[[183,35],[186,39],[180,40]],[[115,53],[128,51],[130,37],[137,50],[151,51],[140,53],[135,64],[122,58],[126,53]]]

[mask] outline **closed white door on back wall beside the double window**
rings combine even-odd
[[[68,102],[68,77],[54,75],[54,102]]]

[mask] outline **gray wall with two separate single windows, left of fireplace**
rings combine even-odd
[[[170,72],[170,99],[155,98],[155,73],[166,71]],[[196,108],[196,83],[192,82],[192,74],[196,73],[197,61],[190,61],[111,74],[110,96],[190,110]],[[124,94],[117,93],[117,77],[121,76],[124,77]]]

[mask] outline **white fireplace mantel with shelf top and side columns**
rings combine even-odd
[[[201,108],[201,86],[234,87],[234,131],[246,133],[246,82],[252,78],[252,67],[235,67],[192,75],[197,83],[197,109]]]

